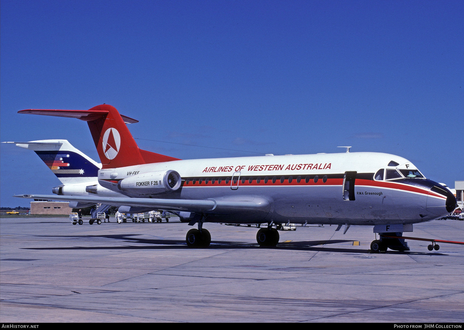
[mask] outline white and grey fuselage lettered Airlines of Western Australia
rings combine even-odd
[[[391,162],[398,165],[388,166]],[[444,216],[446,196],[438,183],[401,176],[375,180],[380,169],[416,169],[407,159],[372,152],[179,160],[101,169],[98,182],[124,193],[117,182],[148,172],[174,170],[182,178],[175,192],[124,193],[161,199],[269,200],[266,212],[209,214],[206,221],[234,223],[412,224]],[[348,172],[348,174],[347,174]],[[354,187],[349,188],[350,175]],[[399,172],[398,172],[399,173]],[[233,221],[232,221],[233,220]]]

